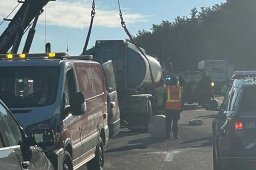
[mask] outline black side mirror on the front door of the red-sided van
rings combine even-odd
[[[79,116],[86,112],[87,106],[82,92],[75,92],[71,96],[72,115]]]

